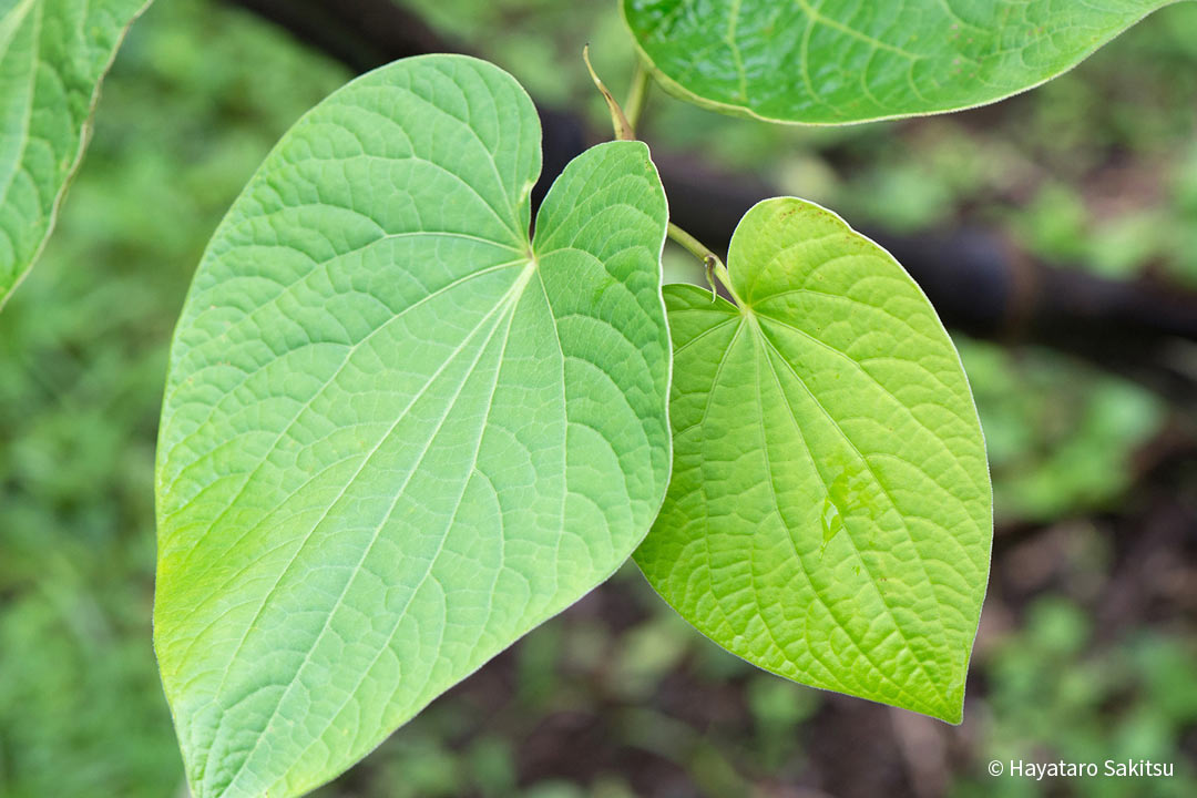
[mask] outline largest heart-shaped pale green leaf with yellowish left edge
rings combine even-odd
[[[668,483],[667,208],[648,148],[558,178],[464,56],[286,134],[170,358],[154,641],[196,798],[294,796],[609,577]]]

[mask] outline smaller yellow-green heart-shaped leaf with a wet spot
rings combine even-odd
[[[992,536],[960,359],[885,250],[795,199],[731,240],[740,306],[666,286],[674,474],[636,553],[729,651],[959,721]]]

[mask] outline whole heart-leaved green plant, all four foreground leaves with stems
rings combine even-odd
[[[53,227],[142,0],[0,0],[0,304]],[[727,264],[669,221],[651,81],[840,124],[1070,68],[1166,2],[622,0],[616,139],[535,213],[514,78],[351,81],[220,224],[175,333],[154,645],[196,798],[298,796],[628,558],[788,678],[962,715],[991,489],[964,370],[901,266],[766,200]],[[670,237],[712,290],[662,287]],[[713,290],[717,281],[727,297]]]

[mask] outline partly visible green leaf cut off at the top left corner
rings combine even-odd
[[[99,83],[147,0],[0,0],[0,307],[49,238]]]

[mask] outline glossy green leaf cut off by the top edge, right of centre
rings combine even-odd
[[[667,90],[770,122],[843,124],[991,103],[1175,0],[621,0]]]

